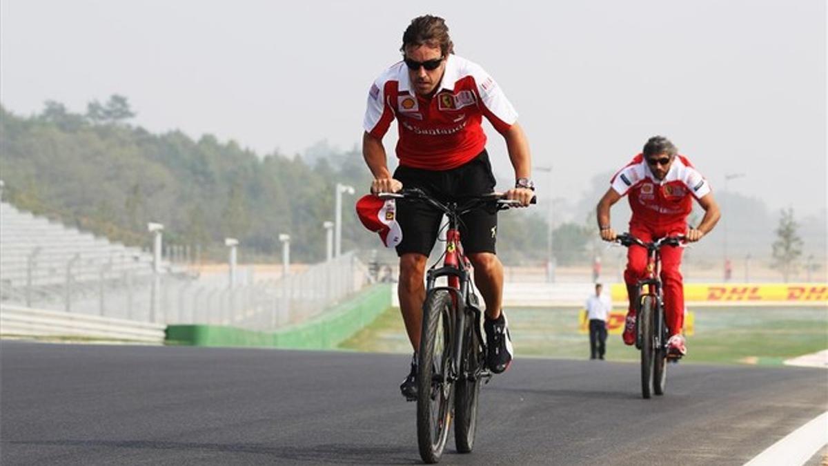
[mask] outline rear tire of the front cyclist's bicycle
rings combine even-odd
[[[483,347],[474,318],[466,319],[465,345],[460,363],[460,378],[455,386],[455,446],[458,453],[471,453],[477,430],[477,406],[480,396],[479,372],[483,367]],[[467,375],[467,376],[465,376]]]

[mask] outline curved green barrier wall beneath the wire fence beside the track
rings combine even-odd
[[[388,309],[391,293],[392,285],[374,284],[320,318],[272,333],[217,325],[169,325],[166,343],[202,347],[335,348]]]

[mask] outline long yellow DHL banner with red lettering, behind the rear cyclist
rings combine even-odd
[[[613,284],[614,303],[627,301],[627,287]],[[828,305],[828,284],[685,284],[688,305]]]

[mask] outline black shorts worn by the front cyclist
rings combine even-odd
[[[469,163],[450,170],[432,171],[400,166],[394,172],[394,178],[402,182],[403,188],[418,187],[440,201],[488,194],[494,191],[496,184],[485,149]],[[397,222],[402,229],[397,255],[431,254],[442,217],[442,212],[423,201],[397,199]],[[460,221],[460,242],[466,253],[495,253],[498,232],[496,210],[474,209],[461,216]]]

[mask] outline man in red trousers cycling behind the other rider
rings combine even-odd
[[[601,239],[616,240],[609,223],[609,208],[624,195],[629,196],[633,216],[629,232],[644,242],[674,235],[685,235],[695,242],[713,230],[721,216],[719,206],[710,191],[710,183],[696,171],[690,161],[678,154],[678,149],[667,138],[655,136],[644,144],[643,152],[615,173],[609,190],[598,202],[597,217]],[[687,226],[692,210],[692,199],[705,210],[699,226]],[[684,326],[684,285],[681,282],[681,248],[662,248],[661,278],[664,284],[664,312],[670,338],[667,351],[674,357],[686,355],[687,348],[681,329]],[[623,342],[635,342],[635,313],[638,302],[636,283],[647,274],[647,250],[630,245],[627,252],[627,284],[629,311],[623,330]]]

